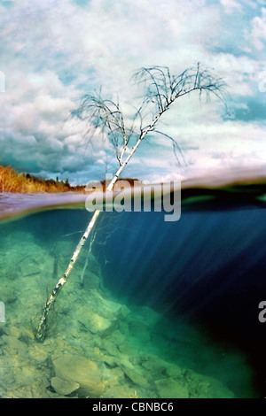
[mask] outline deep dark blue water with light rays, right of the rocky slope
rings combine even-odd
[[[266,299],[265,212],[183,212],[177,223],[154,213],[127,217],[128,229],[106,244],[106,284],[118,297],[182,316],[215,342],[237,345],[264,389],[266,324],[258,306]]]

